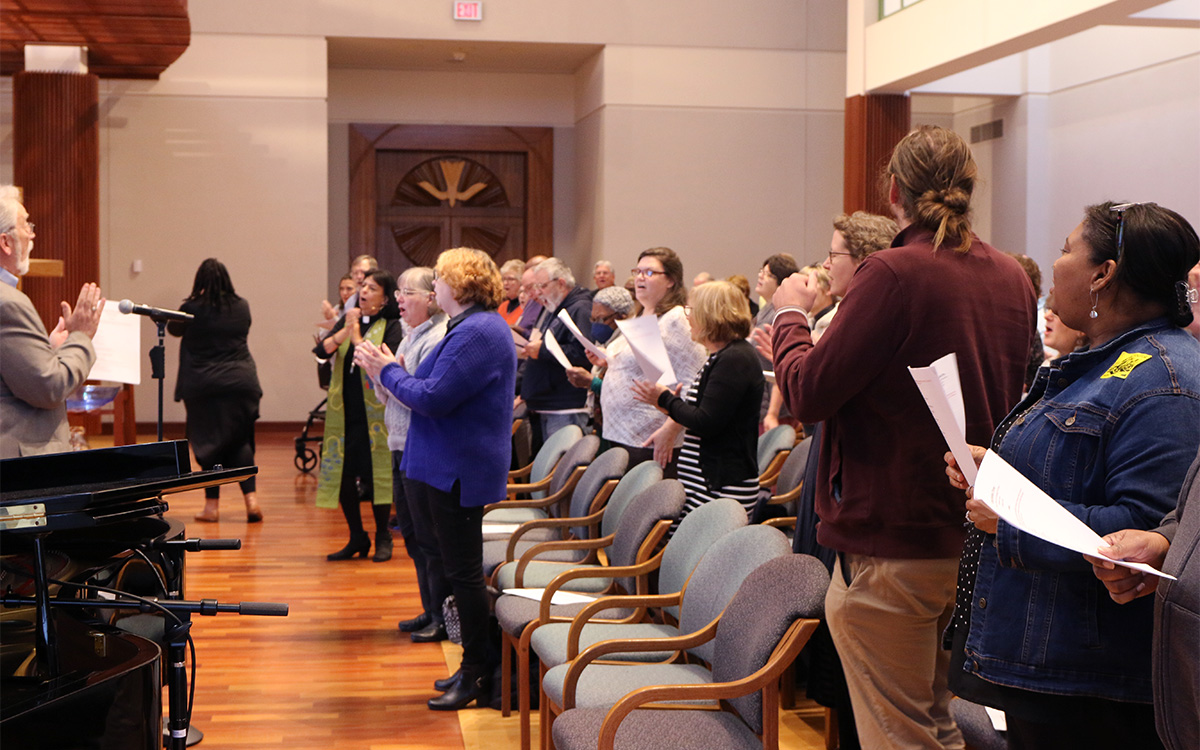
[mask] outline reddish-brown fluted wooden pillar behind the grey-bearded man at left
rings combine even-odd
[[[31,277],[22,289],[47,330],[59,302],[100,281],[100,79],[78,73],[13,76],[13,181],[37,228],[34,256],[64,262],[60,277]]]

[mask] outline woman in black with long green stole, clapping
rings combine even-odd
[[[354,347],[364,341],[388,344],[396,350],[404,334],[396,305],[396,280],[383,269],[367,271],[359,289],[358,307],[346,311],[313,353],[332,355],[332,377],[325,403],[325,437],[320,456],[317,506],[342,506],[350,540],[330,560],[344,560],[371,551],[362,529],[362,500],[371,503],[376,522],[374,560],[391,559],[391,451],[384,425],[384,404],[370,386],[370,378],[354,365]]]

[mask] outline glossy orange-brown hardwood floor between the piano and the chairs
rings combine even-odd
[[[431,683],[457,649],[412,643],[396,622],[416,613],[416,578],[396,540],[388,563],[329,563],[347,540],[340,511],[314,505],[316,478],[293,466],[295,433],[258,443],[258,497],[265,520],[247,524],[236,485],[222,487],[221,520],[199,523],[202,492],[170,498],[187,535],[239,538],[235,552],[187,557],[187,599],[282,601],[288,617],[196,617],[193,724],[204,750],[391,750],[517,748],[516,715],[431,712]],[[143,438],[146,439],[146,438]],[[368,530],[370,514],[367,516]],[[535,716],[536,719],[536,716]],[[823,748],[820,708],[785,712],[782,745]],[[535,730],[536,732],[536,730]],[[536,734],[535,734],[536,737]],[[464,739],[466,738],[466,739]]]

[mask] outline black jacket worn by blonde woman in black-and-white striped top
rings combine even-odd
[[[700,437],[700,469],[713,492],[758,475],[758,404],[766,385],[758,354],[739,338],[713,355],[696,386],[696,403],[670,391],[659,406]]]

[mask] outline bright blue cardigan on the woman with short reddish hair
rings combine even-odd
[[[516,371],[512,334],[494,311],[454,325],[415,374],[385,366],[380,384],[413,410],[404,474],[443,492],[462,482],[464,508],[504,499]]]

